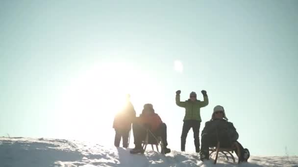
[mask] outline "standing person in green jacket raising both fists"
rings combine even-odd
[[[185,108],[185,116],[183,119],[183,128],[181,134],[181,151],[185,151],[186,137],[190,128],[193,128],[196,152],[199,152],[199,127],[201,123],[200,108],[209,104],[207,92],[202,90],[204,101],[197,100],[196,92],[190,93],[190,98],[185,102],[180,102],[181,90],[176,91],[176,104]]]

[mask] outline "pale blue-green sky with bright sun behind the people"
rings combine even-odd
[[[296,0],[1,0],[0,22],[0,136],[113,146],[130,93],[180,150],[175,91],[205,89],[200,131],[223,105],[251,155],[298,155]]]

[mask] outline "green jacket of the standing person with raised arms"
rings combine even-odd
[[[185,108],[185,116],[183,121],[197,120],[201,122],[200,108],[209,104],[208,96],[204,96],[204,101],[199,100],[192,102],[190,99],[185,102],[180,102],[180,95],[176,95],[176,104]]]

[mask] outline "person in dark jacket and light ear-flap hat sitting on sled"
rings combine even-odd
[[[228,122],[225,116],[224,107],[217,105],[213,109],[212,118],[205,123],[205,127],[201,135],[201,161],[209,159],[209,147],[217,146],[220,142],[220,147],[234,147],[235,143],[240,148],[240,162],[247,162],[249,158],[249,151],[237,141],[239,134],[236,131],[233,123]],[[234,149],[237,152],[236,148]],[[238,155],[238,154],[237,154]]]

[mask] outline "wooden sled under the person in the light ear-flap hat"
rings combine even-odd
[[[215,159],[214,159],[214,164],[216,164],[217,162],[217,158],[218,158],[218,154],[221,152],[225,155],[225,158],[227,161],[229,161],[229,157],[227,156],[227,154],[229,154],[231,156],[231,158],[233,159],[233,163],[236,163],[236,160],[235,160],[235,157],[233,156],[233,153],[234,153],[234,149],[236,148],[237,152],[235,152],[237,154],[238,157],[240,157],[240,148],[239,148],[239,145],[237,142],[235,142],[233,144],[232,147],[230,148],[221,148],[220,147],[220,142],[217,143],[217,146],[216,147],[211,147],[209,148],[209,151],[211,151],[210,155],[212,153],[216,153],[215,154]],[[238,158],[238,164],[240,164],[240,160]]]

